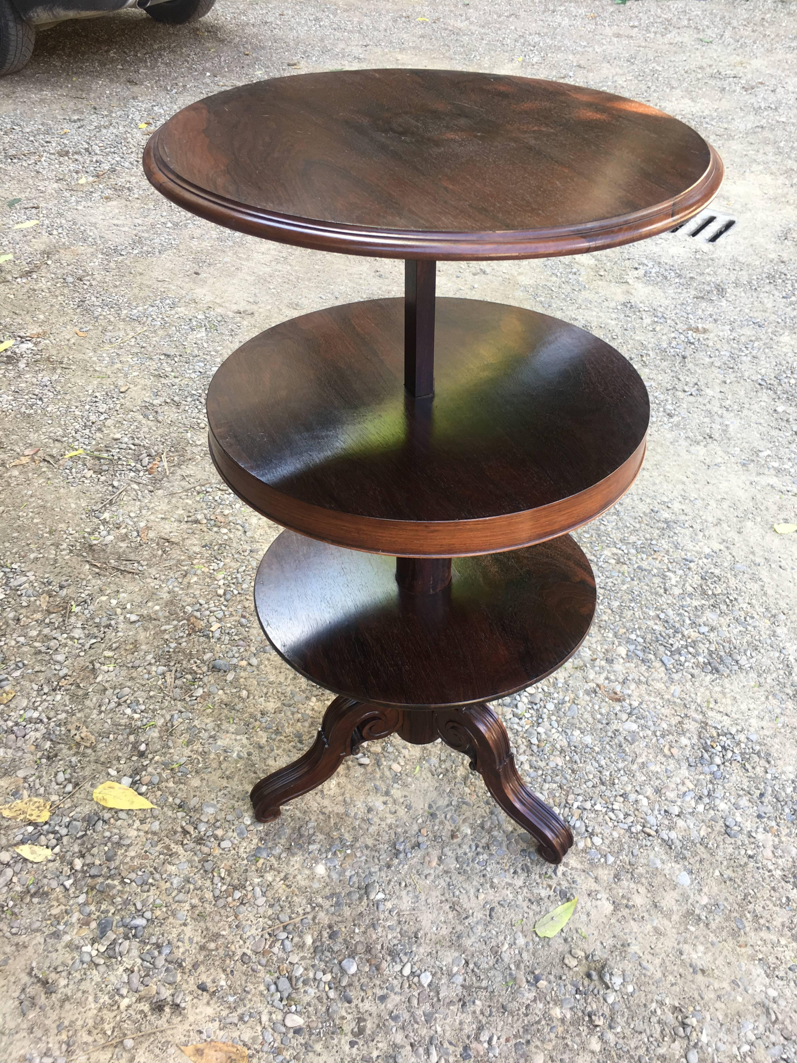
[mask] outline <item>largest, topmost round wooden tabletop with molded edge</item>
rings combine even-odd
[[[185,107],[145,169],[230,229],[395,258],[531,258],[640,240],[723,178],[676,118],[561,82],[353,70],[242,85]]]

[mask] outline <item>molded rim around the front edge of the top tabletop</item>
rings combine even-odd
[[[163,126],[162,126],[163,129]],[[710,152],[705,173],[685,191],[644,210],[557,229],[505,232],[413,232],[370,229],[278,214],[237,203],[200,188],[176,173],[159,151],[156,130],[143,151],[143,170],[150,184],[172,203],[217,225],[261,239],[378,258],[475,260],[552,258],[603,251],[667,232],[703,209],[716,196],[725,169],[716,151]]]

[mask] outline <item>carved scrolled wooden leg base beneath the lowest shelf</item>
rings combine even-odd
[[[463,753],[507,815],[537,839],[543,860],[561,863],[573,844],[571,829],[522,781],[506,728],[489,705],[403,712],[336,697],[307,753],[252,788],[255,819],[260,823],[276,820],[283,805],[326,782],[345,757],[358,752],[362,742],[392,733],[414,745],[426,745],[441,738],[446,745]]]

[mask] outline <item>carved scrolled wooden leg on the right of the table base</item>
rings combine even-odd
[[[446,745],[470,758],[471,767],[507,815],[537,839],[543,860],[561,863],[573,844],[571,829],[521,779],[506,728],[493,710],[487,705],[441,709],[435,723]]]

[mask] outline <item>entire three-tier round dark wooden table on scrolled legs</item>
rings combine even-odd
[[[561,861],[569,827],[521,781],[487,703],[556,671],[595,610],[569,533],[628,489],[648,400],[630,364],[532,310],[436,299],[436,261],[600,251],[700,210],[697,133],[557,82],[359,70],[244,85],[150,139],[164,196],[230,229],[402,258],[405,294],[255,336],[216,373],[210,454],[289,530],[255,581],[266,636],[337,696],[312,748],[252,790],[260,821],[368,740],[441,738]]]

